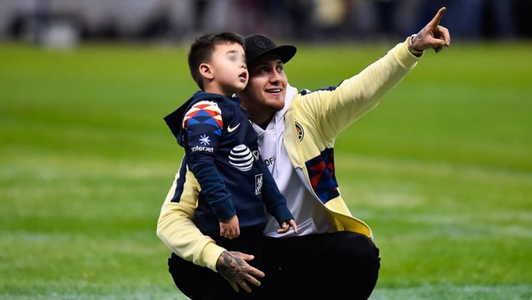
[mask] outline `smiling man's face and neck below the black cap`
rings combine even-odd
[[[285,107],[287,78],[278,55],[267,55],[249,66],[249,82],[238,93],[242,104],[250,109],[278,112]]]

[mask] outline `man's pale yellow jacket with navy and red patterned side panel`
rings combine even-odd
[[[283,109],[287,155],[296,173],[305,179],[303,183],[312,187],[315,200],[332,215],[335,231],[354,231],[372,237],[369,226],[351,215],[339,193],[332,157],[335,138],[375,107],[417,61],[407,50],[407,42],[398,44],[335,89],[302,91],[287,101],[289,106]],[[190,170],[175,175],[161,208],[157,236],[178,256],[216,271],[216,261],[225,249],[199,232],[193,222],[199,191]],[[180,196],[176,197],[176,193]]]

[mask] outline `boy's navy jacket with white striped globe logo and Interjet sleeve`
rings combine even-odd
[[[264,204],[279,224],[293,218],[260,158],[251,121],[238,104],[236,98],[198,91],[164,117],[185,148],[181,172],[188,166],[202,188],[194,222],[206,235],[218,235],[219,222],[235,214],[242,231],[264,227]]]

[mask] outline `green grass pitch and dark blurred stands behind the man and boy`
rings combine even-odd
[[[441,6],[452,47],[337,139],[371,300],[532,299],[531,1],[0,0],[0,300],[185,299],[155,226],[194,37],[296,44],[290,82],[317,89]]]

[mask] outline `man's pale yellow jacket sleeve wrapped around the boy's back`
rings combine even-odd
[[[177,179],[179,173],[175,175],[174,183],[161,208],[157,222],[157,236],[177,256],[217,272],[216,261],[225,249],[216,245],[209,236],[204,236],[193,222],[197,195],[200,191],[199,184],[187,168],[179,202],[172,202]]]

